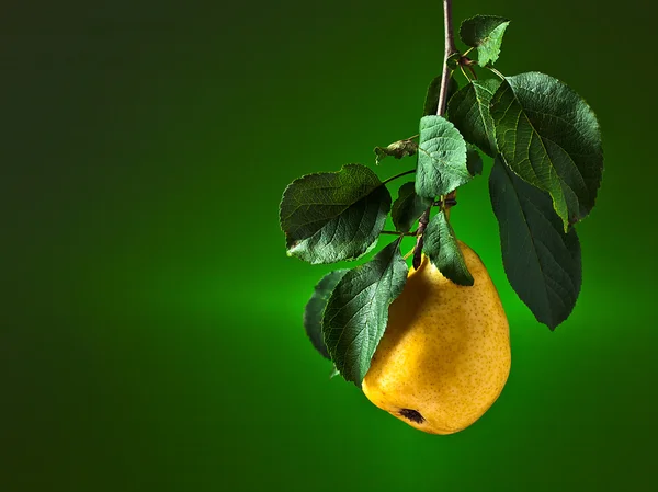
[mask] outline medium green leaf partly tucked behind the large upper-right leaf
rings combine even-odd
[[[447,104],[447,118],[466,141],[475,144],[490,157],[498,152],[489,104],[500,83],[499,79],[474,80],[460,89]]]

